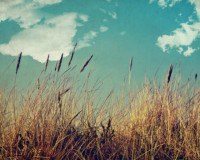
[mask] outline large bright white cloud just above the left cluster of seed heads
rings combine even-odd
[[[67,56],[77,32],[77,17],[77,13],[66,13],[47,20],[45,24],[25,29],[12,37],[8,44],[0,45],[0,52],[18,55],[22,51],[23,55],[30,55],[40,62],[44,62],[48,54],[51,60],[58,60],[61,53]]]

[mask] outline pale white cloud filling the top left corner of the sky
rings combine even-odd
[[[0,22],[10,19],[16,21],[23,28],[29,28],[42,19],[42,17],[37,14],[37,9],[46,5],[60,3],[61,1],[62,0],[1,0]]]

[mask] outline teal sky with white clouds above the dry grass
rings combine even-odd
[[[44,63],[76,42],[80,57],[94,54],[99,76],[123,79],[133,57],[137,81],[170,64],[188,78],[200,68],[200,1],[0,0],[1,54]]]

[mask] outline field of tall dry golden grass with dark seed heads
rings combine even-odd
[[[171,80],[172,66],[163,85],[148,81],[97,103],[97,84],[75,87],[72,58],[26,94],[0,92],[0,159],[200,159],[200,90]],[[47,67],[48,59],[41,74]]]

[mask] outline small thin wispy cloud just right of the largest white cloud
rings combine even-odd
[[[90,47],[91,46],[91,40],[93,40],[95,37],[97,37],[97,32],[95,31],[89,31],[86,33],[83,37],[83,39],[79,42],[78,49]]]

